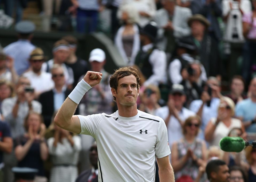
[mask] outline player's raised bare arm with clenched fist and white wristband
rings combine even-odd
[[[79,118],[73,114],[84,94],[92,88],[92,86],[100,83],[102,78],[101,76],[102,73],[92,71],[88,71],[85,74],[83,80],[81,80],[69,94],[68,98],[66,98],[60,110],[56,114],[54,118],[56,125],[73,133],[81,133]]]

